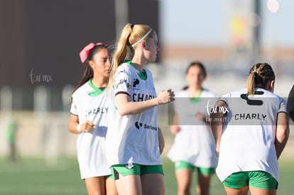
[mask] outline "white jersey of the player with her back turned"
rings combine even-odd
[[[285,101],[265,89],[254,96],[246,89],[222,96],[229,109],[220,147],[217,176],[223,182],[234,172],[264,171],[278,181],[276,157],[276,118],[286,112]]]

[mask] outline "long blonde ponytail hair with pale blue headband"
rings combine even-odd
[[[121,63],[126,60],[127,55],[131,58],[134,56],[134,48],[142,40],[152,38],[152,28],[143,24],[131,24],[128,23],[124,26],[124,29],[121,31],[121,37],[116,46],[116,50],[111,60],[111,72],[109,75],[108,87],[110,87],[114,82],[114,74],[116,69],[121,65]],[[130,53],[128,53],[128,51]],[[131,59],[130,59],[131,60]]]

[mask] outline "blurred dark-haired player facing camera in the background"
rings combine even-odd
[[[190,194],[194,169],[197,169],[197,194],[208,195],[210,179],[217,167],[207,113],[207,103],[212,104],[216,96],[203,88],[206,76],[202,62],[191,62],[186,70],[188,86],[176,93],[174,101],[175,115],[170,131],[175,135],[175,142],[168,157],[175,162],[178,195]]]

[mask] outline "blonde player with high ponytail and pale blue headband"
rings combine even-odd
[[[156,94],[151,72],[158,37],[150,26],[127,24],[112,59],[109,91],[113,93],[107,160],[119,194],[165,194],[160,152],[163,136],[156,106],[174,100],[171,89]]]

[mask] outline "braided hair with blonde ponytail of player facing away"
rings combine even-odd
[[[254,87],[266,89],[268,82],[275,80],[275,73],[268,63],[255,64],[249,72],[249,77],[246,82],[248,95],[253,95],[255,92]]]

